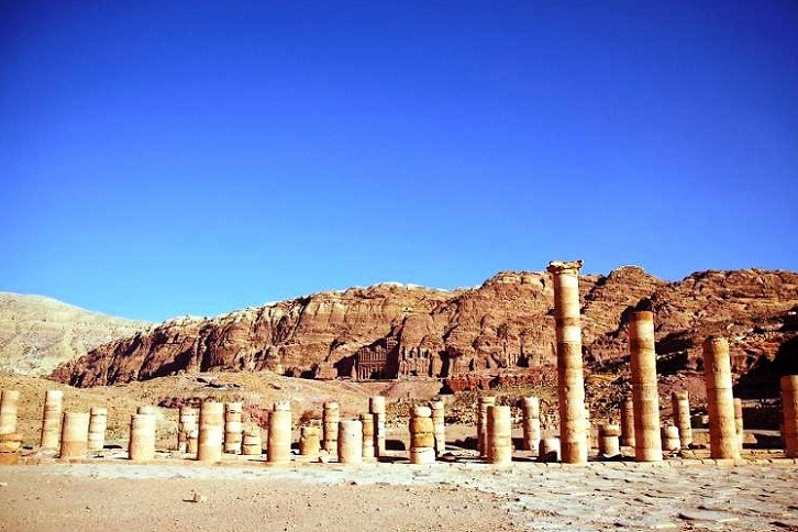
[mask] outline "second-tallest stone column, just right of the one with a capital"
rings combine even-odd
[[[662,437],[653,312],[641,310],[629,317],[629,351],[632,355],[634,457],[638,462],[660,462]]]

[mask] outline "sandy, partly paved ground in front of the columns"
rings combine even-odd
[[[207,500],[191,502],[198,492]],[[798,530],[798,465],[0,467],[0,530]]]

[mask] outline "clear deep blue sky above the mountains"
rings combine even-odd
[[[163,320],[798,269],[798,3],[0,3],[0,290]]]

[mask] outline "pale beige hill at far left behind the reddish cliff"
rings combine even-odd
[[[60,364],[148,325],[42,296],[0,292],[0,370],[46,375]]]

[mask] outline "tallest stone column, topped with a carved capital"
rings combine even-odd
[[[557,397],[559,400],[561,458],[566,464],[587,463],[585,377],[579,324],[579,268],[581,261],[552,262],[554,318],[557,335]]]

